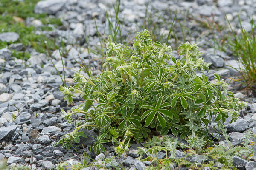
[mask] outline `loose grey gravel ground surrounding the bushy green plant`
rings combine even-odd
[[[156,23],[160,23],[159,18],[162,16],[166,20],[158,30],[159,34],[168,34],[169,24],[172,23],[175,11],[177,9],[177,19],[180,21],[186,18],[186,22],[182,22],[185,32],[188,34],[184,38],[180,23],[175,22],[174,30],[179,39],[196,42],[199,49],[203,52],[203,57],[207,62],[211,62],[211,70],[208,76],[213,79],[213,74],[217,72],[223,77],[231,77],[237,72],[233,69],[227,69],[227,65],[236,67],[237,63],[232,53],[227,50],[221,52],[214,50],[213,34],[210,29],[202,27],[198,19],[214,21],[219,25],[226,25],[224,12],[230,20],[231,25],[239,32],[238,13],[244,28],[250,31],[250,22],[247,16],[256,19],[255,9],[256,0],[121,0],[120,16],[123,29],[122,37],[128,36],[128,40],[134,37],[137,31],[141,30],[143,25],[145,11],[153,12],[155,15],[151,18]],[[113,14],[111,0],[44,0],[35,6],[35,13],[44,13],[52,17],[59,17],[63,26],[59,26],[53,31],[37,31],[35,34],[45,34],[47,37],[56,37],[58,44],[63,40],[67,45],[65,49],[67,57],[63,59],[64,66],[67,68],[79,69],[79,56],[84,63],[89,64],[87,45],[85,41],[84,31],[90,28],[90,45],[99,45],[99,38],[96,34],[96,21],[99,32],[104,34],[105,29],[105,10],[108,9]],[[166,11],[168,9],[168,11]],[[187,16],[187,17],[185,17]],[[95,21],[94,21],[95,18]],[[42,26],[42,23],[33,18],[28,18],[28,24]],[[108,27],[105,31],[108,33]],[[217,38],[221,38],[228,30],[217,32]],[[15,41],[19,35],[14,32],[0,34],[1,41]],[[169,40],[170,44],[175,42],[175,38]],[[69,125],[61,117],[60,109],[68,110],[76,107],[81,102],[79,97],[73,98],[73,105],[67,105],[58,88],[62,85],[61,78],[52,65],[55,64],[58,71],[63,75],[61,57],[58,51],[52,51],[52,62],[46,54],[40,54],[32,48],[25,47],[26,51],[31,54],[30,59],[22,61],[12,57],[9,49],[20,51],[23,44],[11,44],[8,48],[0,49],[0,159],[8,159],[8,165],[23,164],[30,162],[33,169],[37,170],[54,169],[56,164],[61,161],[75,159],[76,161],[84,161],[81,155],[90,153],[91,146],[95,142],[93,137],[97,134],[93,130],[84,130],[89,136],[87,139],[81,140],[85,149],[79,149],[76,152],[73,149],[64,150],[62,147],[53,147],[53,143],[58,141],[61,136],[68,131],[73,130],[73,125]],[[177,51],[174,51],[174,55]],[[101,58],[95,56],[95,59]],[[96,66],[95,74],[100,71],[100,64],[94,62]],[[73,84],[72,76],[74,71],[64,68],[67,85]],[[221,69],[220,69],[221,68]],[[239,83],[231,83],[230,90],[236,92],[236,96],[244,101],[249,102],[247,110],[242,111],[237,122],[225,123],[225,128],[230,133],[230,139],[233,143],[239,144],[241,138],[247,130],[252,130],[256,134],[256,98],[249,93],[241,91],[243,86]],[[81,115],[76,115],[75,119],[80,119]],[[229,119],[227,119],[227,122]],[[213,126],[213,125],[212,125]],[[224,139],[221,138],[221,141]],[[91,150],[90,157],[96,160],[94,164],[101,164],[100,161],[105,158],[111,158],[116,155],[113,146],[106,146],[107,153],[98,156]],[[113,166],[124,167],[125,170],[143,170],[146,165],[151,162],[141,162],[137,159],[134,150],[137,147],[143,147],[142,144],[132,144],[128,157],[114,158],[112,164],[106,164],[106,169],[112,169]],[[179,150],[175,152],[176,156],[183,157]],[[163,153],[159,153],[159,157],[164,157]],[[200,162],[201,159],[196,159]],[[191,159],[193,161],[194,159]],[[194,162],[195,162],[194,160]],[[238,164],[248,164],[247,161],[234,159]],[[256,161],[256,158],[254,158]],[[250,162],[249,162],[250,163]],[[256,167],[256,163],[250,163]],[[217,166],[217,165],[216,165]],[[217,166],[218,167],[218,166]],[[220,166],[219,166],[220,167]],[[83,170],[99,169],[97,167],[84,168]],[[173,166],[171,169],[175,169]],[[207,170],[207,168],[205,168]],[[248,169],[246,169],[248,170]]]

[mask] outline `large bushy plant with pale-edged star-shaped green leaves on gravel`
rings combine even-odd
[[[108,37],[105,71],[88,78],[81,68],[74,74],[76,85],[60,88],[68,104],[75,94],[84,99],[77,109],[61,110],[64,119],[72,123],[73,114],[80,112],[84,123],[56,144],[64,142],[70,147],[80,128],[96,128],[99,136],[94,148],[99,153],[105,152],[103,143],[125,139],[122,147],[126,147],[131,138],[142,142],[151,132],[180,134],[182,139],[189,135],[207,138],[206,127],[212,118],[224,123],[231,115],[231,122],[236,121],[246,103],[226,90],[227,83],[218,74],[215,82],[209,82],[204,74],[209,64],[200,57],[197,45],[187,42],[179,51],[176,60],[171,46],[152,42],[148,30],[137,34],[133,48]],[[167,64],[169,59],[172,65]],[[202,76],[195,74],[198,69]],[[129,137],[124,138],[127,132]]]

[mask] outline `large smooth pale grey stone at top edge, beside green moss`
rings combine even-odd
[[[43,0],[35,6],[35,13],[56,14],[66,3],[67,0]]]

